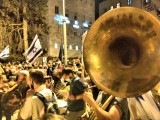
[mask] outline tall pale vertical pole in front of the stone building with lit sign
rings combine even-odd
[[[67,36],[66,36],[65,0],[63,0],[63,37],[64,37],[64,65],[67,65]]]

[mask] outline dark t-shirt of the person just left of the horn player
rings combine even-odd
[[[84,89],[87,87],[87,84],[85,84],[79,77],[76,77],[70,84],[70,93],[74,96],[80,95],[84,92]],[[85,103],[83,99],[81,100],[74,100],[70,101],[68,100],[68,110],[69,111],[81,111],[85,108]]]

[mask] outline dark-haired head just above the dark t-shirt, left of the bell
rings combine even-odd
[[[74,78],[74,71],[72,69],[63,69],[62,71],[62,77],[67,80],[67,79],[73,79]]]

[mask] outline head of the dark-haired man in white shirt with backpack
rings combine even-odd
[[[45,79],[43,76],[43,73],[40,70],[33,69],[29,72],[29,77],[30,77],[30,86],[32,85],[35,87],[34,84],[36,85],[42,85],[45,83]]]

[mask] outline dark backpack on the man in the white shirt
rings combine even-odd
[[[43,103],[45,113],[53,113],[53,114],[59,114],[59,108],[56,100],[55,94],[52,92],[52,101],[48,101],[41,93],[35,92],[35,96],[37,96]]]

